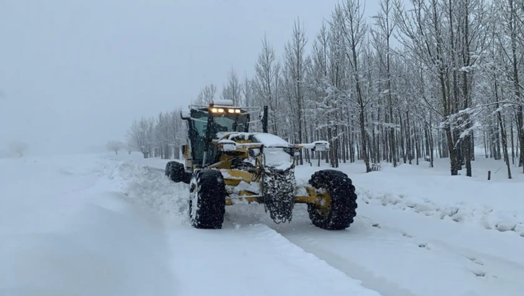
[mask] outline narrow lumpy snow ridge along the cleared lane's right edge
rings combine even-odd
[[[476,224],[500,232],[513,231],[524,237],[524,217],[516,211],[514,213],[502,212],[485,205],[475,206],[464,202],[439,205],[418,196],[391,193],[377,194],[358,187],[357,194],[359,199],[367,204],[381,204],[404,211],[422,213],[426,216],[435,216],[441,220]]]

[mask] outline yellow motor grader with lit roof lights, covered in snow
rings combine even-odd
[[[258,120],[250,121],[252,114]],[[235,107],[231,100],[215,100],[190,105],[180,115],[187,122],[187,144],[183,161],[168,162],[166,175],[189,184],[193,227],[222,228],[225,206],[254,202],[264,204],[275,223],[291,221],[296,203],[307,204],[317,227],[340,230],[353,223],[357,196],[345,173],[319,170],[304,185],[297,185],[294,176],[300,149],[326,151],[327,141],[294,145],[267,133],[267,106]],[[263,133],[249,132],[256,122]]]

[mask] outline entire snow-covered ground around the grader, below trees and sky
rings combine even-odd
[[[329,232],[304,205],[288,224],[235,205],[223,229],[194,229],[167,160],[0,159],[0,295],[522,296],[520,168],[507,180],[502,161],[477,156],[474,178],[451,177],[448,161],[341,165],[357,218]]]

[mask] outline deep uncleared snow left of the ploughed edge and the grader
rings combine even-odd
[[[0,295],[379,295],[266,225],[190,227],[165,161],[118,157],[1,160]]]

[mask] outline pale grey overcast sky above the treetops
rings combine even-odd
[[[366,15],[377,0],[363,1]],[[252,75],[261,38],[277,53],[300,17],[309,40],[337,0],[0,1],[0,150],[82,152],[124,140],[133,119]]]

